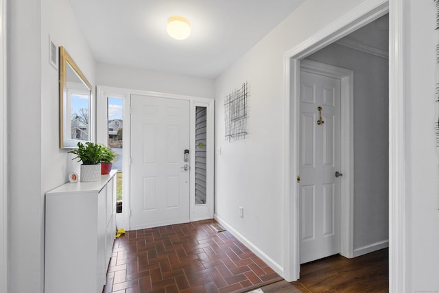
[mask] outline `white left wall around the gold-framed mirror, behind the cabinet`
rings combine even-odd
[[[92,84],[95,64],[68,0],[8,5],[8,292],[43,292],[44,194],[67,182],[75,165],[59,149],[58,73],[49,65],[49,34]]]

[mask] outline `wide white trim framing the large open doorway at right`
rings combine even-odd
[[[398,124],[403,119],[403,96],[401,94],[403,65],[403,46],[401,40],[403,38],[402,30],[402,14],[401,5],[392,3],[390,8],[390,46],[389,46],[389,123],[392,127],[388,130],[389,143],[389,285],[390,290],[395,288],[403,288],[401,278],[404,276],[403,263],[405,261],[405,247],[403,242],[403,226],[405,218],[404,213],[404,197],[403,178],[404,169],[397,168],[403,165],[405,159],[403,157],[404,143],[403,133],[404,125]],[[351,32],[364,27],[368,23],[375,21],[379,17],[389,12],[388,1],[380,1],[379,3],[370,3],[363,5],[356,10],[349,12],[343,18],[338,19],[324,30],[316,35],[298,44],[296,47],[285,53],[285,139],[286,139],[286,156],[285,161],[285,264],[283,277],[288,281],[295,281],[300,276],[300,227],[299,227],[299,211],[298,211],[298,185],[296,176],[298,176],[298,102],[299,102],[299,72],[300,62],[307,56],[319,51],[323,47],[334,43],[336,40],[347,36]],[[393,14],[392,14],[393,12]],[[393,15],[393,16],[392,16]],[[401,94],[401,95],[399,95]],[[291,180],[294,178],[294,181]],[[398,191],[398,192],[396,192]],[[366,247],[365,247],[366,248]]]

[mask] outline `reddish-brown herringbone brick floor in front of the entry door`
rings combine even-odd
[[[215,220],[117,238],[104,293],[241,292],[282,279],[228,231],[217,233],[210,224]]]

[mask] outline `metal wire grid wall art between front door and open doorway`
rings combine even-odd
[[[225,137],[228,141],[246,139],[247,97],[248,84],[244,82],[240,89],[235,89],[224,98]]]

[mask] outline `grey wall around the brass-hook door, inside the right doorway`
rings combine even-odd
[[[389,61],[338,44],[307,59],[354,71],[354,250],[361,253],[389,239]]]

